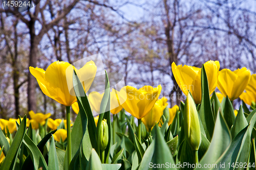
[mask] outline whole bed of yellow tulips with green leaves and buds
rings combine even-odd
[[[0,119],[0,170],[256,169],[256,74],[245,67],[173,63],[186,99],[170,108],[160,84],[116,90],[106,71],[104,93],[88,94],[93,61],[29,69],[42,92],[65,105],[66,118],[29,111]]]

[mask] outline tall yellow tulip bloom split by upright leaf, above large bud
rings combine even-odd
[[[210,94],[217,86],[217,76],[220,69],[219,61],[207,61],[204,63]],[[191,92],[196,104],[201,103],[201,68],[187,65],[172,64],[174,78],[185,95]]]

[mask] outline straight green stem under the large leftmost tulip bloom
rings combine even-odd
[[[67,139],[68,139],[68,167],[71,162],[71,131],[70,131],[70,106],[66,106]]]

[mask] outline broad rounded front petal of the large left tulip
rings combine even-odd
[[[67,62],[56,61],[49,65],[45,73],[46,88],[51,95],[50,98],[65,106],[71,106],[76,101],[76,96],[71,95],[74,92],[69,91],[67,84],[73,83],[73,67],[69,66],[71,64]],[[72,84],[69,86],[72,87]]]

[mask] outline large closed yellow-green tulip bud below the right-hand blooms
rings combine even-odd
[[[197,108],[190,93],[188,93],[185,101],[183,117],[187,142],[193,151],[198,151],[201,144],[201,130]]]

